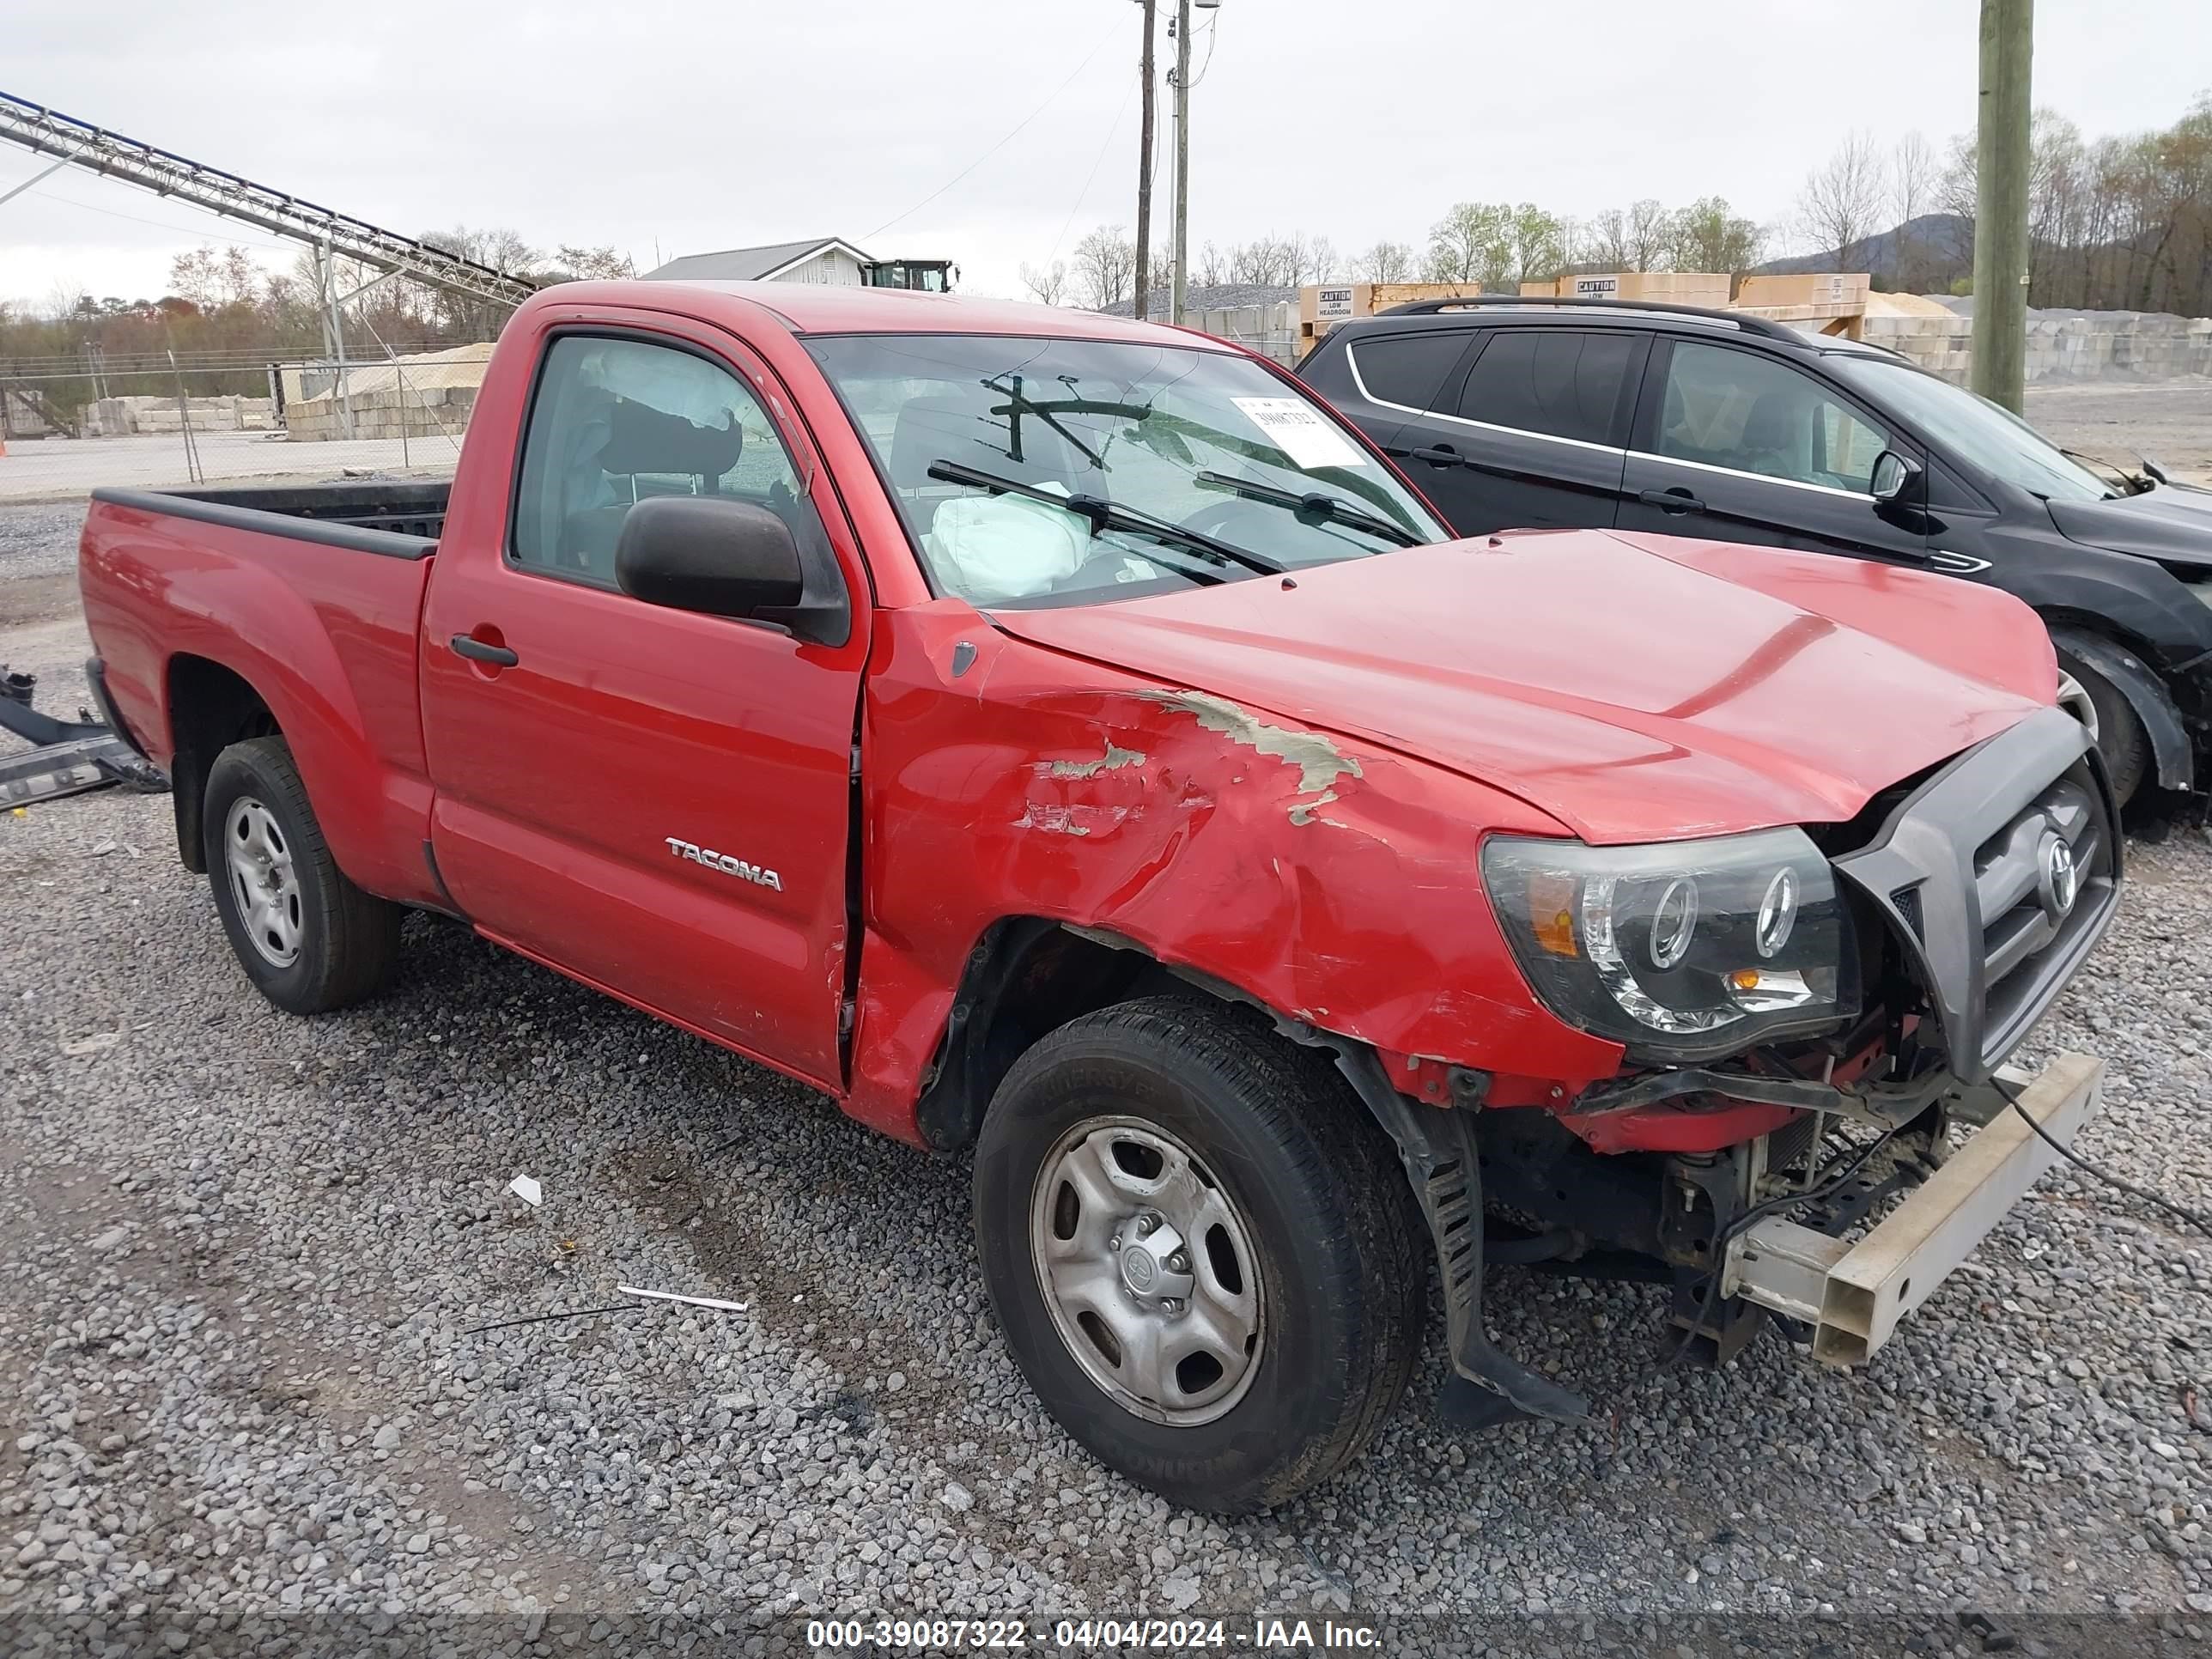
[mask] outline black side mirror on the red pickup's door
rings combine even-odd
[[[790,526],[765,507],[721,495],[648,495],[624,513],[615,586],[708,617],[761,617],[805,597]]]

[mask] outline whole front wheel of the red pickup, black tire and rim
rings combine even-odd
[[[1146,998],[1015,1062],[975,1148],[984,1285],[1022,1374],[1102,1462],[1190,1509],[1349,1464],[1420,1349],[1398,1168],[1316,1053]]]

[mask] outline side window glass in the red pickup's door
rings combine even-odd
[[[648,495],[734,495],[803,533],[812,507],[768,411],[719,363],[646,341],[553,341],[522,438],[511,557],[615,582],[615,542]]]

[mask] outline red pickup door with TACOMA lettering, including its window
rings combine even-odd
[[[836,1084],[858,555],[772,372],[641,316],[546,325],[507,500],[447,522],[422,611],[431,847],[489,936]],[[774,511],[852,595],[849,637],[622,593],[615,540],[655,493]]]

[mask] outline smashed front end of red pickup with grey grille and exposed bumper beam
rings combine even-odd
[[[1431,1110],[1376,1057],[1343,1062],[1422,1199],[1453,1367],[1500,1409],[1573,1418],[1582,1400],[1491,1347],[1486,1256],[1666,1283],[1681,1345],[1714,1363],[1778,1316],[1823,1363],[1863,1365],[2097,1113],[2097,1060],[2004,1068],[2119,900],[2117,810],[2079,721],[2033,714],[1816,841],[1829,938],[1849,940],[1829,1031],[1674,1064],[1630,1044],[1617,1077],[1551,1110],[1502,1108],[1500,1079],[1464,1068],[1444,1073],[1453,1110]],[[1586,949],[1566,909],[1528,914]],[[1646,962],[1674,956],[1650,938],[1632,940]]]

